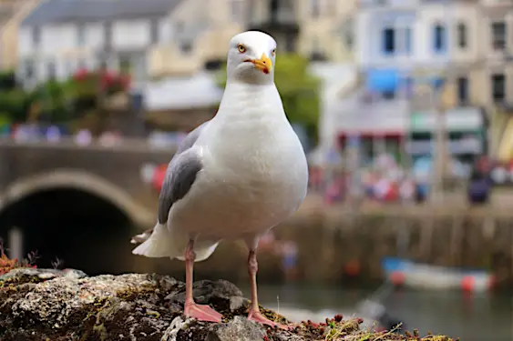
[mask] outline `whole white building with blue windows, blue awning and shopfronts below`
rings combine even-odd
[[[360,79],[325,108],[323,144],[344,147],[357,138],[364,155],[385,151],[402,157],[413,138],[419,142],[413,145],[416,148],[406,149],[416,155],[429,154],[435,127],[417,126],[416,118],[429,121],[425,118],[432,118],[438,101],[453,103],[448,106],[453,109],[446,112],[451,123],[447,129],[462,139],[467,132],[480,134],[480,111],[465,107],[471,83],[467,74],[481,56],[479,17],[475,1],[361,0],[354,15],[354,55]],[[419,83],[433,85],[441,79],[447,85],[442,97],[431,86],[424,86],[429,91],[421,93]],[[445,100],[449,88],[456,97],[452,101]],[[462,116],[472,126],[452,124]],[[475,143],[460,149],[464,155],[482,151]]]

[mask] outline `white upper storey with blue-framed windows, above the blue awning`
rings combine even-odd
[[[356,15],[355,55],[362,68],[443,68],[475,61],[475,2],[362,0]]]

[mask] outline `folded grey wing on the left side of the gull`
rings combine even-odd
[[[169,209],[187,195],[202,168],[200,155],[190,148],[169,162],[159,196],[159,224],[168,222]]]

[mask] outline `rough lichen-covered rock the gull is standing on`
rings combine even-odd
[[[291,325],[290,330],[262,326],[246,318],[249,301],[224,280],[194,284],[198,302],[224,316],[221,324],[199,322],[183,315],[184,294],[185,285],[169,276],[87,277],[77,270],[19,268],[0,276],[0,340],[406,340],[405,336],[360,330],[357,319],[301,323]],[[262,308],[262,312],[289,324],[271,310]]]

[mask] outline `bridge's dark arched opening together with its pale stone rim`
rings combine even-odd
[[[138,224],[148,224],[147,215],[128,192],[108,180],[58,169],[20,178],[5,189],[0,237],[10,256],[37,251],[38,266],[52,266],[58,258],[89,275],[123,273],[133,271],[129,238]]]

